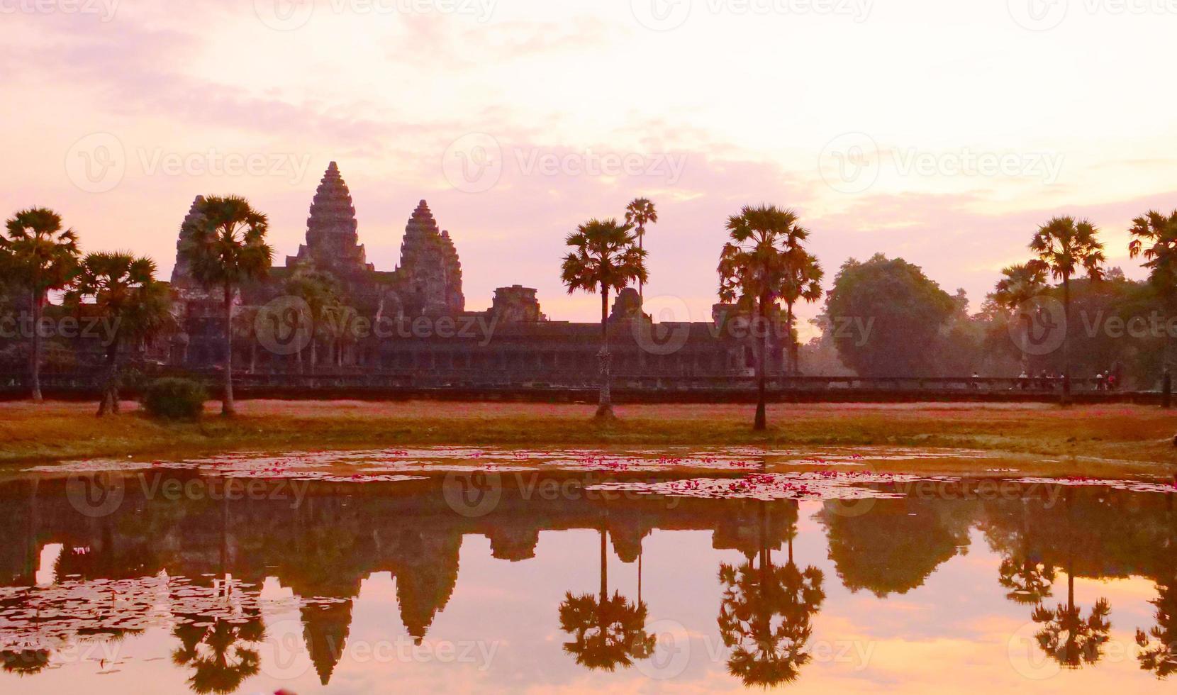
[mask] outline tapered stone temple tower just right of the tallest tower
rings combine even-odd
[[[465,310],[458,251],[450,232],[438,231],[438,223],[425,200],[405,226],[400,266],[395,273],[407,315],[454,315]]]

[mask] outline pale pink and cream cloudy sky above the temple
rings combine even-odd
[[[0,213],[167,277],[193,197],[238,193],[281,263],[335,160],[378,269],[424,198],[467,309],[519,283],[591,320],[564,237],[644,196],[649,307],[703,320],[763,201],[827,286],[883,252],[976,309],[1060,213],[1142,277],[1130,220],[1177,207],[1173,35],[1168,0],[0,0]]]

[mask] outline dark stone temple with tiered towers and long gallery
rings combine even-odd
[[[189,217],[195,210],[194,203]],[[415,385],[577,385],[597,378],[600,324],[548,319],[534,289],[499,287],[488,309],[467,311],[454,240],[425,200],[408,219],[400,263],[392,271],[367,262],[358,226],[351,192],[331,163],[311,203],[306,243],[284,266],[272,267],[266,280],[242,287],[235,298],[237,369],[257,375],[403,375]],[[307,272],[333,278],[343,309],[332,320],[317,322],[305,345],[274,349],[258,331],[267,320],[284,320],[271,310],[290,299],[292,278]],[[179,254],[172,284],[180,331],[171,338],[165,362],[215,369],[224,357],[224,299],[204,290]],[[706,382],[746,376],[754,349],[722,330],[726,309],[717,305],[712,322],[654,324],[643,313],[637,290],[624,290],[609,322],[618,385],[639,378]],[[288,329],[274,327],[279,333]],[[770,372],[780,369],[779,348],[772,350]]]

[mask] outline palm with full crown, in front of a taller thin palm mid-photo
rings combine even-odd
[[[591,219],[580,225],[566,240],[574,251],[564,257],[560,280],[568,294],[577,290],[600,292],[600,395],[597,418],[612,419],[613,404],[609,393],[609,291],[623,290],[632,280],[644,283],[646,252],[633,245],[632,225],[616,219]]]

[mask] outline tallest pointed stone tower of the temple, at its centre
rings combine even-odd
[[[339,176],[339,166],[332,161],[311,203],[306,244],[299,246],[298,256],[286,258],[286,265],[310,263],[340,278],[373,271],[374,266],[367,263],[364,245],[359,243],[357,227],[352,193]]]

